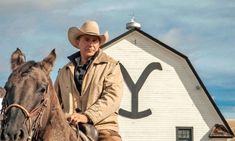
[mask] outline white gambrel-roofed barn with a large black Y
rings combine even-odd
[[[182,53],[138,28],[102,48],[122,66],[123,141],[226,141],[234,136]]]

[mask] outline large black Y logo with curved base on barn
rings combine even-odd
[[[146,79],[148,78],[149,74],[153,70],[155,69],[162,70],[161,64],[158,62],[153,62],[149,64],[140,75],[136,84],[133,82],[126,68],[121,63],[120,63],[120,67],[121,67],[123,78],[129,90],[131,91],[131,111],[129,112],[120,108],[119,114],[124,117],[132,118],[132,119],[143,118],[143,117],[147,117],[151,115],[152,112],[150,109],[139,112],[139,109],[138,109],[139,91],[142,88],[143,84],[145,83]]]

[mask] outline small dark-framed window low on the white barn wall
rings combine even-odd
[[[193,128],[176,127],[176,141],[193,141]]]

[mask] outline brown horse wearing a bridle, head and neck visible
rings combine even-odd
[[[13,52],[3,99],[1,140],[81,140],[69,126],[49,76],[55,59],[55,50],[40,62],[25,62],[20,49]]]

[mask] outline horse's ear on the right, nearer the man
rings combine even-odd
[[[43,69],[47,74],[51,72],[55,60],[56,60],[56,53],[55,49],[53,49],[51,53],[41,61],[41,66],[43,67]]]

